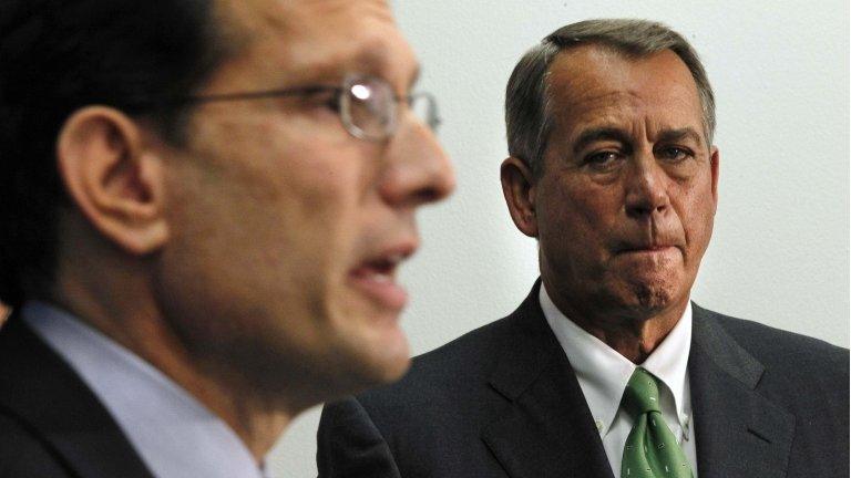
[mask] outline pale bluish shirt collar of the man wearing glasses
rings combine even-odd
[[[263,478],[243,441],[162,372],[69,313],[29,302],[23,320],[100,398],[158,478]]]

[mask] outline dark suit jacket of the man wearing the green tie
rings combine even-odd
[[[327,405],[319,476],[612,478],[537,290],[402,381]],[[848,350],[693,306],[699,477],[847,477]]]

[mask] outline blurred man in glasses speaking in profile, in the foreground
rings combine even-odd
[[[258,477],[408,368],[396,270],[453,176],[385,1],[0,21],[0,476]]]

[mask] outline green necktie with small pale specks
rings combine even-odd
[[[656,377],[638,367],[621,406],[635,419],[624,446],[621,478],[691,478],[691,467],[659,409]]]

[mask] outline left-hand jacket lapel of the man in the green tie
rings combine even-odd
[[[482,439],[512,478],[612,478],[576,375],[539,303],[540,281],[512,314],[491,386],[510,401]]]

